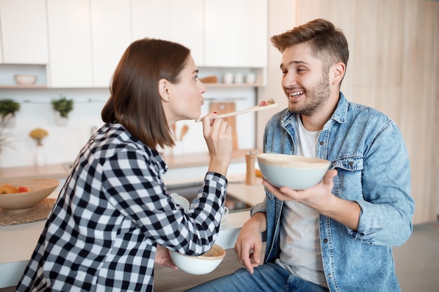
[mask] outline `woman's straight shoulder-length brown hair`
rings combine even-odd
[[[111,95],[101,112],[104,123],[121,123],[149,148],[173,146],[158,81],[179,83],[189,54],[189,48],[160,39],[131,43],[114,71]]]

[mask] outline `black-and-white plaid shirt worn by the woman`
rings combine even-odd
[[[166,193],[161,156],[119,123],[83,147],[17,291],[153,291],[156,244],[212,246],[227,179],[208,172],[185,214]]]

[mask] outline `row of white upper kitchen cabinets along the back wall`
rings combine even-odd
[[[182,43],[205,71],[218,75],[222,73],[217,69],[238,68],[246,70],[243,74],[254,71],[257,75],[255,84],[220,86],[265,84],[266,0],[0,0],[0,4],[6,7],[0,6],[0,13],[7,15],[1,17],[1,24],[8,22],[13,36],[17,34],[14,27],[29,27],[23,25],[28,19],[36,23],[31,26],[32,34],[22,38],[31,41],[20,46],[32,49],[32,54],[11,51],[21,57],[32,56],[40,51],[35,43],[46,43],[46,60],[39,61],[47,64],[46,76],[39,76],[39,80],[47,80],[48,88],[108,88],[123,52],[131,42],[144,37]],[[9,44],[18,39],[13,36],[4,29],[4,59],[13,46]],[[34,57],[14,64],[39,62]]]

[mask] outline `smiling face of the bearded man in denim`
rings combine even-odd
[[[285,48],[281,70],[282,88],[291,112],[312,116],[325,106],[330,97],[328,73],[306,43]]]

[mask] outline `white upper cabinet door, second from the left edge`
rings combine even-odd
[[[88,0],[47,0],[52,88],[87,88],[92,83]]]

